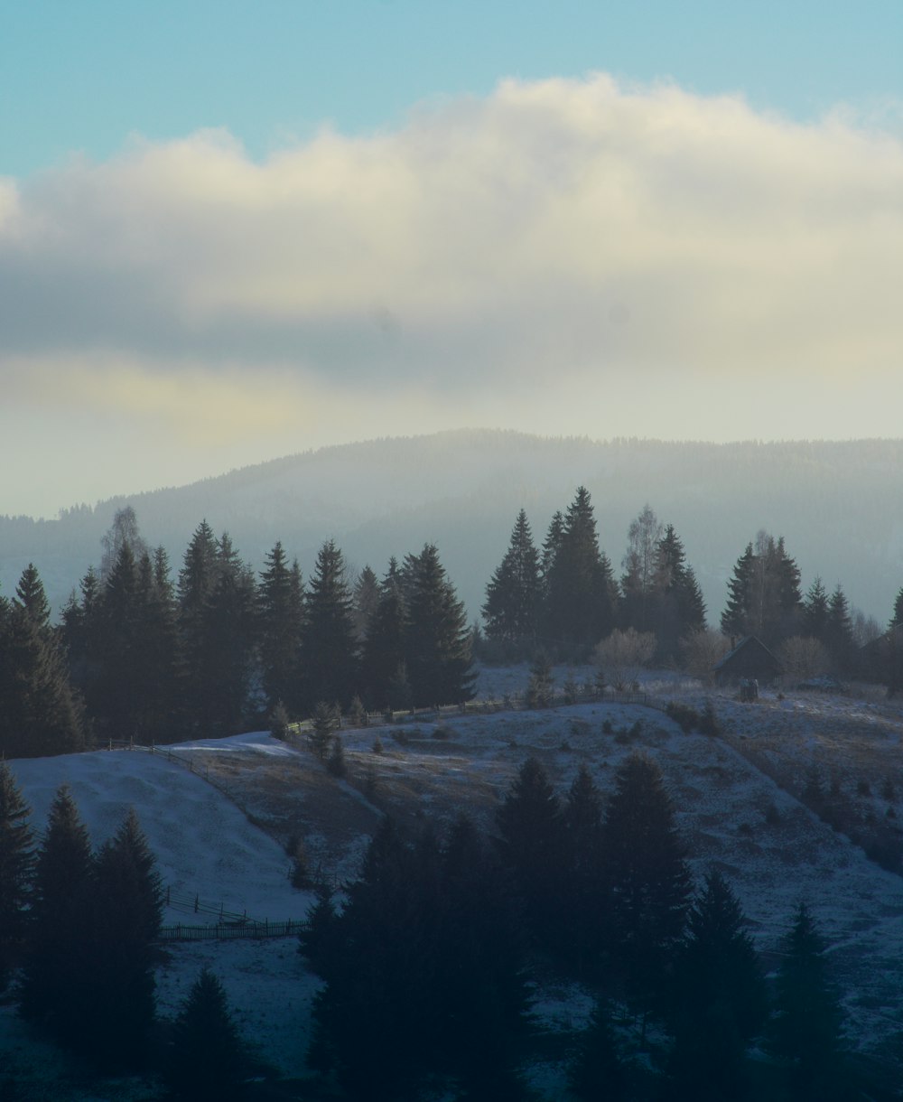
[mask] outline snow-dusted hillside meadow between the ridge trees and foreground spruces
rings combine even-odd
[[[588,670],[575,673],[578,681],[591,679]],[[555,674],[561,687],[565,671]],[[513,696],[525,680],[524,667],[483,670],[478,696]],[[610,789],[620,761],[642,748],[665,773],[694,871],[701,877],[717,867],[729,877],[766,960],[805,899],[831,942],[851,1039],[864,1051],[892,1046],[903,1029],[903,878],[868,861],[762,767],[781,779],[799,776],[813,761],[826,769],[836,763],[850,799],[870,800],[875,814],[889,808],[903,814],[896,802],[896,793],[903,797],[901,707],[801,693],[766,693],[757,704],[739,704],[728,693],[666,674],[645,678],[643,689],[660,704],[682,700],[699,707],[711,696],[724,737],[685,735],[654,709],[599,702],[346,730],[342,781],[304,745],[265,734],[182,744],[170,748],[171,758],[98,750],[12,765],[36,828],[64,781],[95,844],[133,806],[173,893],[274,920],[302,917],[311,900],[289,884],[283,843],[291,833],[302,834],[312,858],[340,879],[353,875],[384,810],[413,821],[426,814],[448,821],[466,809],[488,823],[527,754],[541,757],[564,793],[581,761],[602,790]],[[630,734],[637,721],[640,732]],[[611,733],[602,731],[605,723]],[[892,798],[882,788],[888,779]],[[175,909],[165,917],[195,920]],[[177,943],[167,951],[157,976],[161,1013],[174,1013],[209,964],[244,1036],[285,1074],[303,1073],[316,981],[294,939]],[[545,993],[543,1017],[553,1027],[579,1025],[588,1006],[579,992],[570,1001]],[[25,1058],[25,1034],[10,1008],[0,1016],[0,1056],[4,1046],[8,1056]],[[561,1076],[553,1071],[545,1080],[547,1096],[561,1096]]]

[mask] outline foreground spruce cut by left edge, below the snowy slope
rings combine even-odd
[[[31,809],[0,759],[0,992],[22,958],[34,873]]]

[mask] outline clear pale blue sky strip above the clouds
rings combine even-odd
[[[813,119],[903,96],[903,3],[831,0],[32,0],[0,35],[0,171],[129,134],[225,127],[254,158],[328,121],[400,123],[418,101],[486,96],[504,76],[603,71]]]

